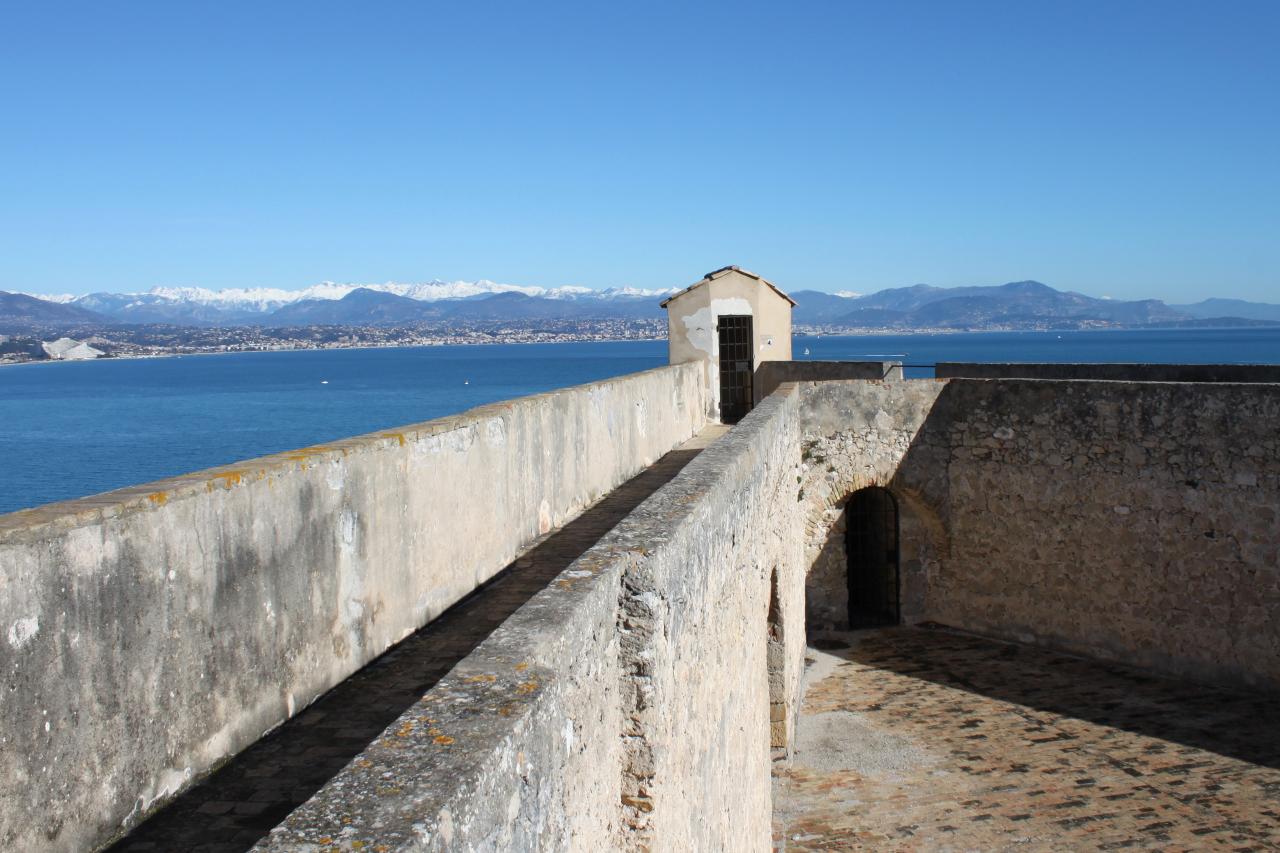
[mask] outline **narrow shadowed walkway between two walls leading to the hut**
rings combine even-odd
[[[708,426],[620,485],[110,849],[233,853],[253,847],[503,620],[726,430],[718,424]]]

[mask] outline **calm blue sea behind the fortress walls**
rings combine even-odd
[[[1280,364],[1280,329],[796,337],[794,350],[796,359],[922,365]],[[0,512],[645,370],[666,359],[664,341],[643,341],[315,350],[0,368]]]

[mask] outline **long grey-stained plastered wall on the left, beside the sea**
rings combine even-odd
[[[137,824],[695,433],[698,365],[0,516],[0,840]]]

